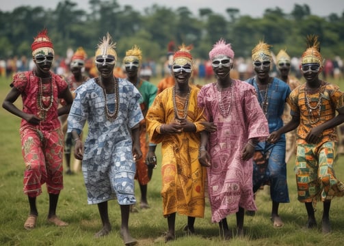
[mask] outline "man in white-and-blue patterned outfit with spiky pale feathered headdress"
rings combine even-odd
[[[103,228],[94,236],[111,231],[107,201],[117,199],[122,224],[120,234],[125,245],[136,245],[129,233],[130,206],[135,204],[135,160],[142,158],[139,123],[144,119],[142,96],[127,79],[114,77],[117,61],[115,44],[107,33],[98,44],[95,59],[99,77],[77,88],[77,96],[68,115],[68,132],[75,139],[75,158],[82,159],[82,172],[88,204],[97,204]],[[79,135],[88,122],[85,147]]]

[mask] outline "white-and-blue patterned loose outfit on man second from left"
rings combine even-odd
[[[82,172],[88,192],[88,204],[98,204],[117,197],[118,204],[135,204],[135,161],[132,154],[131,128],[144,119],[140,92],[126,79],[119,80],[118,117],[105,117],[103,89],[95,79],[76,90],[68,115],[68,132],[82,131],[88,122],[88,137],[82,161]],[[117,99],[117,98],[116,98]],[[115,94],[107,94],[108,108],[115,108]]]

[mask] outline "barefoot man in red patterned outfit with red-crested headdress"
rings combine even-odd
[[[3,108],[22,118],[21,144],[25,161],[24,193],[29,198],[30,213],[25,221],[27,230],[36,226],[38,210],[36,197],[47,184],[49,193],[48,221],[56,226],[68,226],[56,215],[59,193],[63,189],[63,140],[59,115],[69,112],[72,94],[59,75],[50,71],[54,59],[53,43],[47,29],[38,33],[31,44],[35,68],[18,72],[11,83],[12,89],[3,101]],[[23,111],[14,102],[21,96]],[[58,108],[59,98],[66,105]]]

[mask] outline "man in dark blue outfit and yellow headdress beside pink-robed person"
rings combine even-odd
[[[269,44],[259,42],[252,50],[252,61],[256,75],[246,82],[256,89],[259,103],[269,123],[269,132],[272,133],[283,126],[282,114],[291,90],[287,83],[269,76],[272,65],[269,47]],[[282,135],[276,143],[266,141],[258,143],[253,156],[253,191],[256,193],[264,184],[270,185],[271,220],[275,228],[284,225],[280,215],[278,215],[280,203],[289,202],[285,146],[285,135]]]

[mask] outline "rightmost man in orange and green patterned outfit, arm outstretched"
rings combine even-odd
[[[315,205],[317,200],[323,202],[322,232],[328,234],[331,200],[344,195],[344,184],[336,178],[333,168],[338,141],[335,127],[344,122],[344,94],[338,85],[319,79],[323,58],[318,37],[307,36],[307,44],[301,64],[306,83],[293,90],[287,99],[291,121],[271,133],[268,141],[274,143],[282,133],[297,128],[294,168],[297,199],[306,205],[307,228],[317,227]]]

